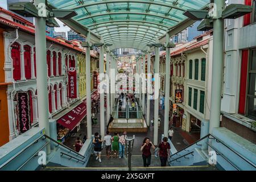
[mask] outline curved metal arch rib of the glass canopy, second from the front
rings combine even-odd
[[[136,14],[136,15],[155,16],[155,17],[158,17],[158,18],[172,20],[172,21],[177,22],[177,23],[180,22],[180,20],[173,19],[173,18],[170,18],[168,16],[162,16],[162,15],[158,15],[158,14],[149,14],[149,13],[143,13],[143,12],[130,12],[130,11],[112,12],[112,13],[104,13],[104,14],[98,13],[98,14],[94,14],[94,15],[90,15],[90,16],[85,16],[83,18],[79,18],[79,19],[76,19],[76,20],[77,20],[77,22],[79,22],[81,20],[94,18],[94,17],[97,17],[97,16],[118,15],[118,14]]]

